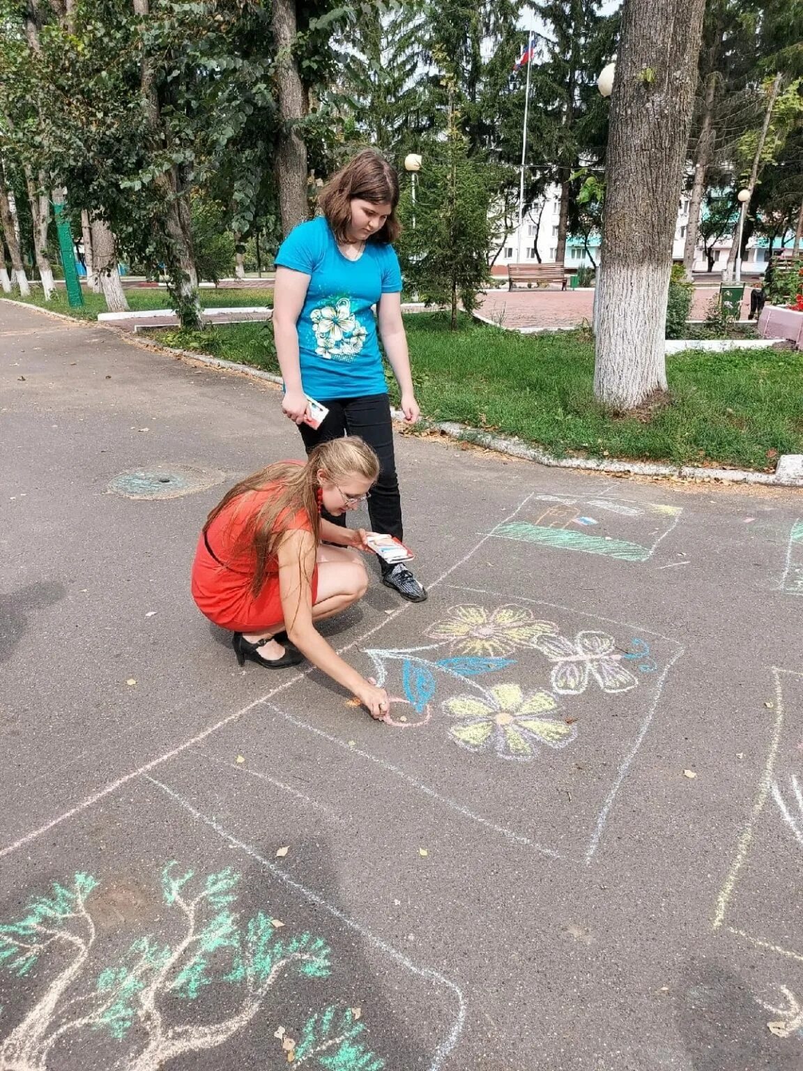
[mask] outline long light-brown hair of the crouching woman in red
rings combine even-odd
[[[256,571],[251,590],[256,598],[264,586],[268,563],[278,554],[278,545],[287,531],[287,524],[299,510],[309,517],[316,543],[320,533],[318,512],[318,472],[325,472],[333,483],[345,482],[352,476],[360,476],[375,483],[379,476],[379,458],[372,448],[360,438],[332,439],[315,447],[306,465],[297,462],[277,462],[254,472],[236,484],[207,517],[203,532],[226,507],[239,499],[234,515],[248,508],[251,494],[263,491],[269,484],[277,484],[277,492],[252,513],[243,527],[233,549],[233,557],[253,550],[256,556]],[[234,517],[232,516],[232,521]]]

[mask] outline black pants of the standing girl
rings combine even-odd
[[[299,424],[306,452],[319,442],[340,439],[344,435],[359,436],[376,451],[379,457],[379,479],[368,499],[370,526],[375,532],[403,539],[402,499],[398,493],[396,461],[393,454],[393,424],[391,403],[387,394],[368,394],[361,398],[318,398],[329,412],[318,428]],[[346,527],[346,517],[323,513],[333,524]]]

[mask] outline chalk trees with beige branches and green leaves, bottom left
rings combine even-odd
[[[42,986],[0,1045],[0,1069],[47,1071],[59,1066],[59,1046],[74,1047],[81,1036],[102,1031],[120,1049],[116,1068],[156,1071],[225,1045],[266,1016],[272,993],[293,977],[327,978],[325,942],[306,932],[289,934],[262,911],[243,919],[239,883],[230,868],[196,876],[168,863],[162,897],[180,920],[179,936],[145,934],[122,955],[101,948],[92,916],[99,880],[91,874],[77,873],[29,900],[18,918],[0,924],[0,968],[16,978],[35,971]],[[219,995],[223,989],[229,994],[226,1014],[212,1022],[187,1014],[182,1021],[182,1004],[202,1002],[204,993]],[[276,1031],[276,1066],[381,1071],[384,1060],[372,1052],[359,1017],[329,1005],[306,1020],[298,1037]],[[273,1066],[270,1056],[266,1067]]]

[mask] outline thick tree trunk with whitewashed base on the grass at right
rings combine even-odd
[[[625,0],[610,106],[594,392],[666,390],[666,301],[704,0]]]

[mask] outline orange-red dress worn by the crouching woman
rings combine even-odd
[[[284,612],[278,588],[278,561],[269,559],[266,580],[255,598],[251,590],[256,572],[253,548],[238,546],[249,517],[275,494],[277,484],[240,495],[200,533],[193,562],[192,592],[198,609],[214,624],[230,632],[259,632],[282,625]],[[282,531],[313,531],[305,510],[281,521]],[[318,593],[318,567],[312,580],[313,604]]]

